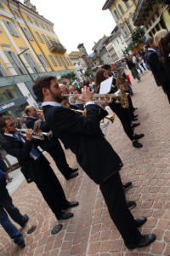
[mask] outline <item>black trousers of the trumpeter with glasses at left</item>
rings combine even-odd
[[[62,209],[68,203],[65,192],[53,169],[48,165],[48,161],[40,157],[35,162],[34,182],[37,184],[44,200],[48,203],[48,207],[54,212],[56,218],[59,218]]]

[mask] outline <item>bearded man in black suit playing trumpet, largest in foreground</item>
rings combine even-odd
[[[62,107],[59,84],[55,77],[37,79],[33,86],[37,100],[42,102],[43,113],[54,137],[76,154],[82,169],[99,184],[113,222],[128,248],[144,247],[156,239],[153,234],[142,236],[138,227],[146,218],[134,219],[127,208],[119,171],[122,160],[105,140],[100,130],[100,120],[108,113],[93,102],[93,93],[86,87],[80,99],[85,103],[87,116]]]

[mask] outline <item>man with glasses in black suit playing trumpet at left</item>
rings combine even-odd
[[[37,148],[34,148],[32,130],[26,130],[26,138],[20,137],[16,130],[14,119],[10,116],[0,118],[0,129],[4,132],[2,146],[8,154],[16,157],[21,166],[21,172],[28,183],[34,181],[42,193],[48,207],[58,219],[73,217],[73,213],[65,212],[70,207],[77,207],[78,202],[69,202],[65,198],[58,178],[49,166],[48,160]]]

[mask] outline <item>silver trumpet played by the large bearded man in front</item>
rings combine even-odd
[[[63,96],[68,96],[69,97],[69,103],[71,105],[75,105],[75,104],[84,104],[84,102],[82,102],[81,100],[78,99],[79,96],[81,96],[81,94],[66,94]],[[94,93],[93,95],[93,100],[95,104],[102,104],[105,103],[106,101],[101,100],[100,98],[109,98],[109,101],[107,101],[108,103],[111,103],[112,99],[120,99],[122,96],[122,91],[121,90],[117,90],[116,93],[112,93],[112,94],[99,94],[99,93]]]

